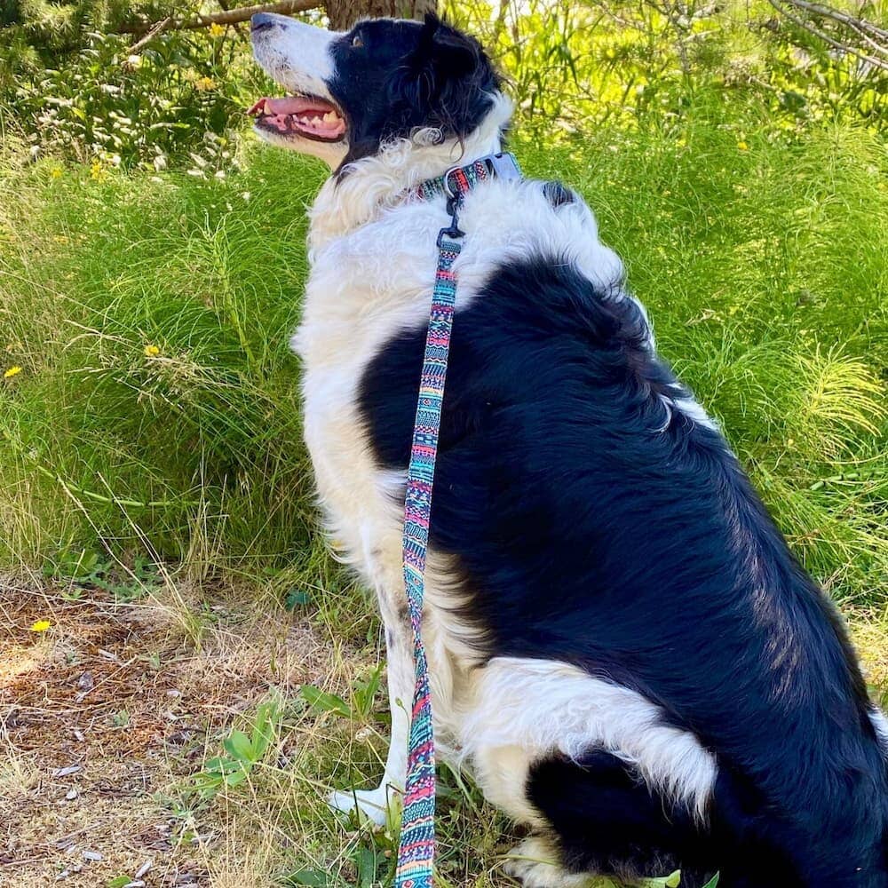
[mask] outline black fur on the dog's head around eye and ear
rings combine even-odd
[[[357,38],[360,45],[353,45]],[[349,125],[346,164],[388,139],[433,128],[464,139],[490,109],[499,77],[480,44],[435,15],[361,21],[332,47],[327,84]]]

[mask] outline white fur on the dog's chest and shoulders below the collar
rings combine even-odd
[[[378,562],[393,547],[400,577],[400,511],[392,488],[403,477],[374,464],[358,387],[388,340],[426,322],[435,242],[447,221],[443,201],[408,202],[322,242],[312,251],[305,312],[293,339],[304,361],[305,440],[329,530],[377,591],[380,581],[400,585],[387,571],[379,575]],[[577,202],[553,210],[537,182],[482,183],[466,197],[460,226],[457,313],[510,259],[567,255],[603,285],[622,275],[618,258],[599,243],[588,208]]]

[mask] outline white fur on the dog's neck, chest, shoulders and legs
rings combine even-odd
[[[295,45],[286,44],[287,52]],[[274,52],[288,58],[280,47]],[[331,801],[347,809],[356,800],[377,822],[385,819],[391,789],[403,785],[403,704],[413,685],[398,503],[405,479],[403,472],[375,463],[357,408],[357,386],[385,342],[427,322],[435,242],[448,215],[443,198],[422,202],[411,189],[455,164],[499,150],[511,108],[502,96],[493,99],[484,123],[462,145],[452,139],[441,143],[439,134],[428,131],[393,142],[351,164],[345,176],[330,179],[311,211],[311,272],[293,338],[304,362],[305,441],[329,534],[377,592],[392,701],[392,747],[380,788],[357,799],[337,793]],[[486,181],[466,195],[459,224],[465,237],[454,266],[457,336],[460,313],[496,266],[510,259],[567,260],[622,298],[622,264],[599,241],[595,217],[579,200],[553,208],[539,182]],[[714,759],[693,735],[662,724],[660,710],[640,694],[561,662],[497,658],[478,668],[475,631],[452,614],[457,596],[466,594],[456,588],[455,574],[448,558],[429,553],[423,634],[442,756],[470,767],[488,799],[531,824],[541,825],[543,818],[527,799],[529,766],[540,757],[580,757],[589,749],[614,753],[649,786],[703,816]],[[581,884],[549,864],[531,862],[515,870],[528,886]]]

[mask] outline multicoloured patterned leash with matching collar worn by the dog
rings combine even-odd
[[[432,289],[432,308],[425,337],[425,356],[416,403],[416,422],[407,472],[404,501],[404,585],[413,629],[416,685],[410,710],[407,779],[404,783],[400,823],[396,888],[431,888],[435,854],[435,744],[432,731],[432,697],[429,668],[423,644],[423,599],[425,557],[432,515],[432,485],[438,456],[441,407],[447,381],[450,336],[456,305],[456,275],[453,264],[462,250],[464,232],[459,228],[459,210],[464,195],[488,178],[521,178],[518,162],[511,154],[487,155],[464,167],[454,167],[443,176],[416,188],[423,200],[445,195],[450,225],[438,234],[438,267]],[[393,701],[392,701],[393,702]]]

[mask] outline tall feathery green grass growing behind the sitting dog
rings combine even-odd
[[[596,210],[662,353],[806,567],[837,600],[884,614],[884,144],[836,127],[788,145],[754,111],[703,96],[680,124],[555,149],[519,137],[516,150],[528,175]],[[372,607],[314,533],[287,344],[321,168],[245,147],[223,181],[53,170],[0,172],[0,372],[22,368],[0,380],[0,568],[64,576],[81,559],[131,570],[147,555],[263,606],[310,590],[300,610],[345,644],[345,673],[369,668]],[[299,836],[291,870],[339,874],[331,884],[382,873],[390,839],[345,836],[317,791],[331,774],[371,785],[382,741],[309,716],[297,778],[270,770],[255,812],[304,781],[274,815]],[[494,884],[504,821],[448,787],[442,884]]]

